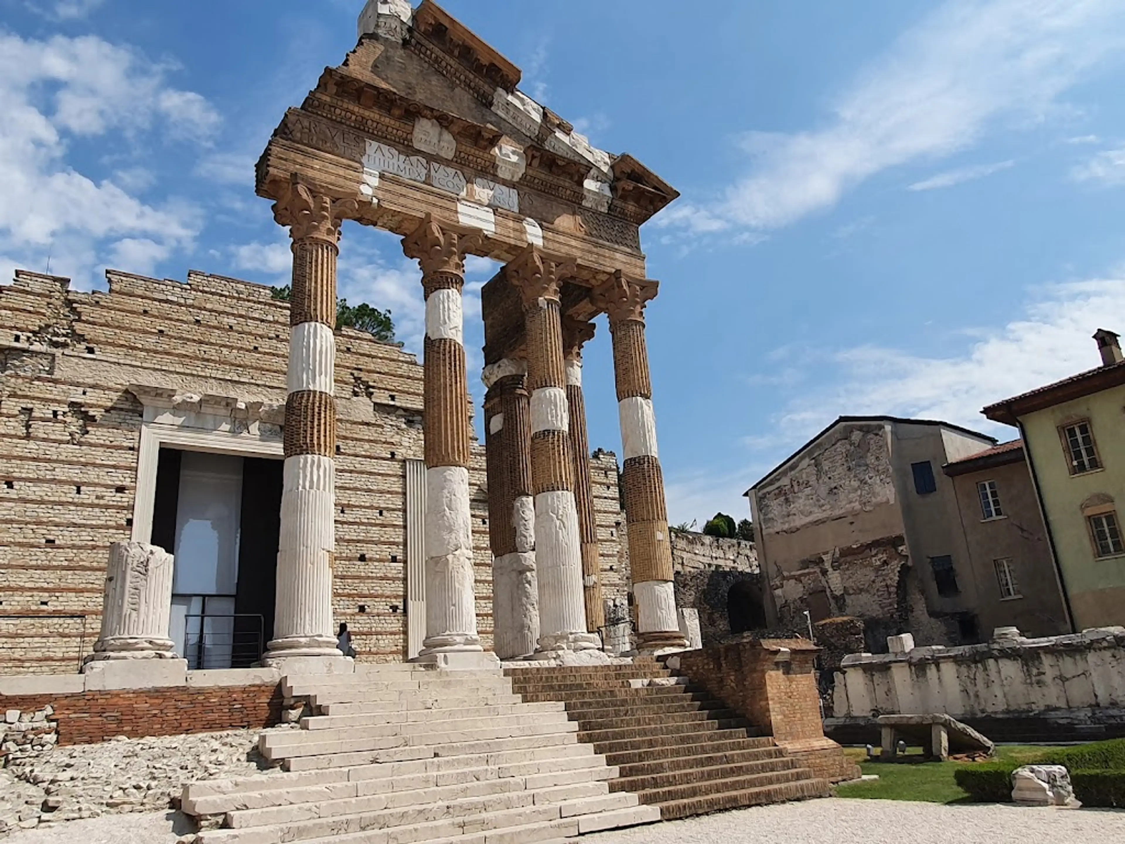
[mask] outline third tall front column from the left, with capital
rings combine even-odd
[[[531,392],[531,475],[536,493],[539,649],[600,647],[586,631],[582,539],[574,497],[559,287],[573,264],[528,246],[506,267],[523,299]]]

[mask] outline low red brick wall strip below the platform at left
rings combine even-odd
[[[108,742],[117,736],[262,729],[280,724],[282,702],[276,685],[0,695],[6,710],[37,711],[51,704],[60,745]]]

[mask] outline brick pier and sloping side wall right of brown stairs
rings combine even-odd
[[[835,742],[825,738],[808,639],[747,639],[678,654],[680,671],[744,715],[817,776],[858,776]]]

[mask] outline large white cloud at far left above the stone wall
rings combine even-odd
[[[0,34],[0,253],[55,272],[78,286],[92,279],[99,258],[153,262],[189,248],[201,226],[191,206],[152,205],[144,172],[124,167],[94,180],[68,162],[75,141],[109,133],[206,140],[217,117],[201,97],[164,82],[166,66],[93,36],[47,41]],[[105,251],[104,254],[99,252]]]

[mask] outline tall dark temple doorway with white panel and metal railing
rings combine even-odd
[[[188,667],[249,667],[273,632],[282,461],[161,447],[152,542],[176,556],[171,638]]]

